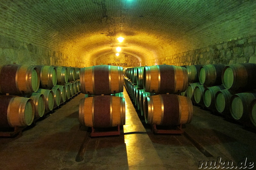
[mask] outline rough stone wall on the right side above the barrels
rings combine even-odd
[[[211,45],[205,48],[159,57],[143,62],[142,65],[193,65],[256,63],[256,36]]]

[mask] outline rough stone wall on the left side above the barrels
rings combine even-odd
[[[87,67],[93,63],[60,51],[38,47],[0,35],[0,64]]]

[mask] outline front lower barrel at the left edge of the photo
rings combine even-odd
[[[2,95],[0,101],[0,127],[23,127],[33,122],[35,106],[32,99]]]

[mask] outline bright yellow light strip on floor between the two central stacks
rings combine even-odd
[[[146,132],[125,89],[124,98],[126,112],[124,133]],[[147,169],[165,169],[148,134],[127,134],[124,135],[124,142],[129,169],[134,169],[134,166],[147,166],[144,167]]]

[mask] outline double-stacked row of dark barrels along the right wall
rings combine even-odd
[[[186,94],[195,103],[256,126],[256,64],[187,66]]]

